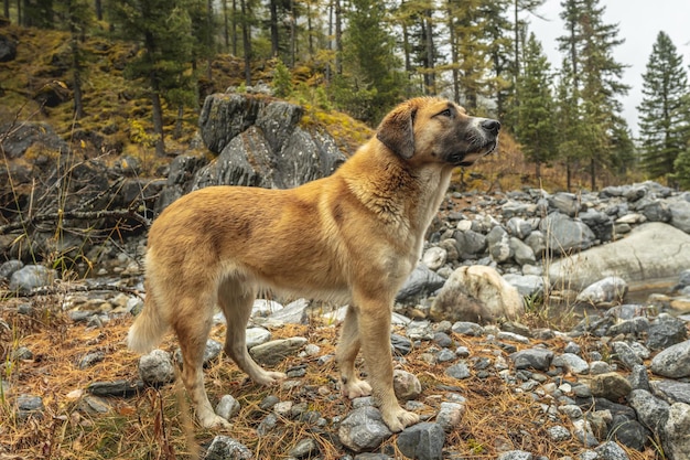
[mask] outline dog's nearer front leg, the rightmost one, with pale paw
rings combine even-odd
[[[419,416],[398,404],[392,385],[392,353],[390,351],[390,315],[392,300],[359,300],[358,327],[364,361],[369,374],[373,394],[379,403],[381,416],[391,431],[401,431],[417,424]]]

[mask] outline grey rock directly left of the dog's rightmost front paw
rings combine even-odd
[[[371,406],[360,407],[349,413],[338,428],[341,442],[355,452],[376,449],[392,436],[381,413]]]

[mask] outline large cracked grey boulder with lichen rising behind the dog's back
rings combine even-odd
[[[195,174],[192,189],[249,185],[290,189],[330,175],[345,161],[331,136],[299,126],[303,109],[282,100],[214,94],[200,131],[218,157]]]

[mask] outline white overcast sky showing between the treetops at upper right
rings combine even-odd
[[[659,31],[666,32],[678,53],[683,56],[683,65],[688,71],[690,64],[690,0],[600,0],[604,6],[604,23],[618,24],[619,38],[625,42],[614,50],[614,57],[621,64],[629,65],[623,76],[630,90],[623,101],[623,115],[637,133],[637,109],[642,101],[642,75],[647,67],[651,46]],[[529,20],[529,30],[543,45],[552,67],[560,68],[562,55],[558,51],[556,38],[564,34],[561,12],[561,0],[547,0],[537,13],[548,21],[535,15]],[[689,71],[690,73],[690,71]]]

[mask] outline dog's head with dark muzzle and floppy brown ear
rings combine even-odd
[[[496,148],[499,129],[497,120],[471,117],[450,100],[418,97],[390,111],[376,137],[406,160],[468,167]]]

